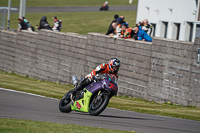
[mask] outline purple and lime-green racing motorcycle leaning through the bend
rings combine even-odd
[[[74,95],[67,92],[59,102],[59,110],[63,113],[80,111],[92,116],[99,115],[107,107],[110,98],[117,95],[116,81],[115,75],[104,74]]]

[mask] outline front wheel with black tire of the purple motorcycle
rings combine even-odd
[[[99,95],[93,97],[92,102],[89,107],[89,114],[96,116],[99,115],[107,107],[109,103],[108,94],[103,94],[100,98]]]

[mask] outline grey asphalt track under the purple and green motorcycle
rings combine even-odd
[[[136,131],[143,133],[199,133],[200,121],[106,108],[99,116],[61,113],[59,100],[0,88],[0,118],[29,119]]]

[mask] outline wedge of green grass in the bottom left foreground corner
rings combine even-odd
[[[0,118],[1,133],[128,133],[111,130],[52,122]]]

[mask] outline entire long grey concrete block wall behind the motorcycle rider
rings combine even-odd
[[[43,80],[71,83],[111,57],[122,62],[119,94],[155,102],[200,107],[200,65],[195,43],[153,38],[152,43],[99,33],[0,31],[0,69]]]

